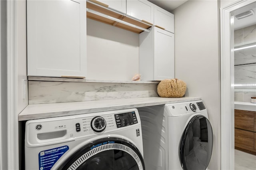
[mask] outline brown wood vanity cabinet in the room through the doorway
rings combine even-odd
[[[256,112],[235,109],[235,148],[256,155]]]

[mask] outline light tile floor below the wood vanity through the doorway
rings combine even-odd
[[[235,170],[256,170],[256,156],[235,149]]]

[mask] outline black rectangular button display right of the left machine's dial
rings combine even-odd
[[[115,114],[115,119],[118,128],[138,123],[135,112]]]

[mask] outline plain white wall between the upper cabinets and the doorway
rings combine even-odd
[[[186,96],[202,97],[214,133],[208,169],[220,169],[219,1],[189,0],[174,11],[175,77],[187,83]]]

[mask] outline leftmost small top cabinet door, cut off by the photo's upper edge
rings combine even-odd
[[[90,0],[90,1],[96,2],[95,0]],[[108,8],[111,8],[113,10],[126,14],[126,0],[97,0],[97,1],[102,2],[103,4],[106,4]]]

